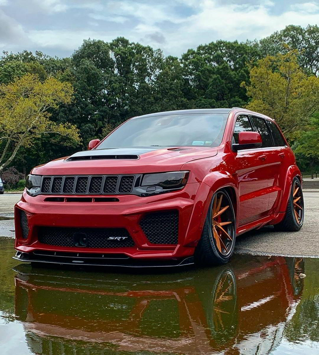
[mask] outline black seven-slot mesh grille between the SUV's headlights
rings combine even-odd
[[[135,175],[43,176],[41,193],[116,195],[131,193]]]

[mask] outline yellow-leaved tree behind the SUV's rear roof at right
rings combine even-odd
[[[272,117],[290,141],[319,109],[319,78],[302,71],[295,50],[258,60],[242,86],[251,97],[246,108]]]

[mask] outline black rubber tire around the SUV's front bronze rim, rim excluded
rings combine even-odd
[[[229,204],[229,218],[232,219],[232,223],[228,227],[229,235],[232,237],[231,245],[229,250],[226,253],[221,253],[216,245],[216,241],[213,237],[212,233],[212,208],[213,208],[213,201],[214,198],[217,197],[217,194],[222,194],[223,198]],[[230,234],[231,233],[231,234]],[[205,224],[202,231],[202,236],[200,241],[197,244],[194,253],[194,260],[195,264],[201,266],[214,266],[214,265],[223,265],[226,264],[230,257],[234,253],[235,249],[235,241],[236,241],[236,222],[235,222],[235,213],[233,204],[231,203],[230,197],[225,190],[218,190],[214,193],[212,197],[212,201],[209,204]]]

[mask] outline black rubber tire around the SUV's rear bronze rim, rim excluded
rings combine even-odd
[[[295,216],[295,209],[293,207],[293,191],[294,187],[297,186],[299,187],[301,198],[298,201],[300,207],[302,208],[301,213],[300,213],[300,220],[297,221],[297,218]],[[298,190],[298,191],[299,191]],[[275,230],[278,231],[284,231],[284,232],[296,232],[301,229],[303,225],[303,219],[304,219],[304,205],[303,205],[303,195],[302,195],[302,189],[301,189],[301,184],[298,178],[294,178],[292,180],[291,184],[291,191],[290,191],[290,196],[289,200],[287,203],[287,209],[286,209],[286,214],[284,219],[274,225]]]

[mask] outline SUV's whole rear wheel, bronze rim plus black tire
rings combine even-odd
[[[275,230],[294,232],[301,229],[303,225],[303,195],[301,184],[298,178],[294,178],[291,185],[291,192],[287,203],[285,218],[274,225]]]

